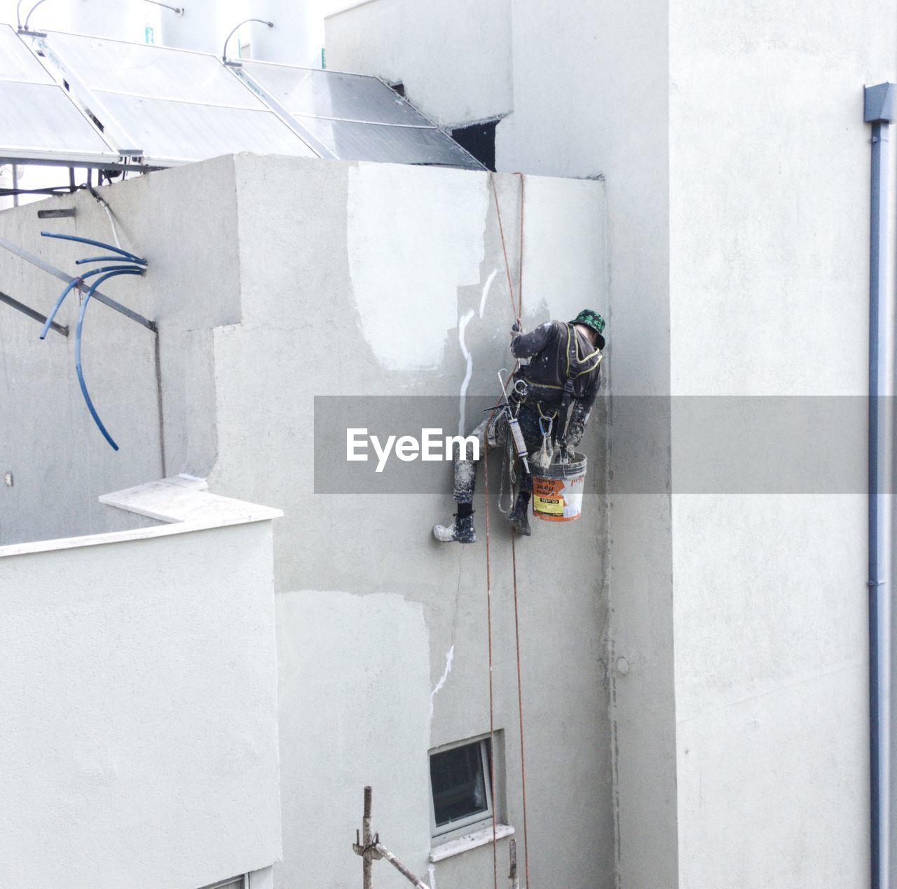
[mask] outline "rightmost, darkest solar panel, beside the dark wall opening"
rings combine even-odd
[[[342,160],[483,170],[377,77],[248,61],[237,72]]]

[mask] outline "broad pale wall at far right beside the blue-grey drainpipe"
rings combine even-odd
[[[671,10],[675,395],[865,397],[862,88],[897,4]],[[862,489],[682,493],[673,533],[681,885],[866,885]]]

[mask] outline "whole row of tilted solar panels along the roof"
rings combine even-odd
[[[0,26],[0,160],[168,167],[238,152],[483,165],[376,77]],[[234,76],[236,74],[236,76]]]

